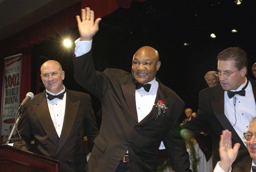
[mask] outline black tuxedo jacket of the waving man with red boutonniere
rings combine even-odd
[[[87,172],[115,172],[129,150],[131,172],[153,172],[157,150],[163,140],[171,165],[176,172],[190,171],[188,152],[180,137],[184,102],[171,89],[158,81],[157,100],[168,107],[157,119],[158,109],[138,122],[135,81],[130,73],[119,69],[94,70],[91,52],[74,58],[75,79],[92,92],[102,104],[100,133],[94,140]]]

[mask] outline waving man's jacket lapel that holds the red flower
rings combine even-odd
[[[164,96],[163,91],[161,89],[161,83],[160,82],[158,82],[158,83],[159,83],[159,86],[158,86],[158,90],[157,90],[157,93],[156,93],[155,104],[153,105],[153,108],[152,108],[151,112],[149,112],[149,114],[144,119],[142,119],[139,122],[139,124],[142,124],[144,122],[147,122],[147,121],[157,117],[158,109],[156,107],[156,104],[157,104],[158,100],[163,100],[165,102],[166,107],[168,107],[168,102],[166,101],[166,97]]]

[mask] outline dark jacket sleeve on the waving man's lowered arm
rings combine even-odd
[[[173,115],[176,115],[175,122],[168,134],[164,137],[163,143],[166,147],[167,154],[171,163],[171,167],[175,172],[191,172],[189,169],[190,161],[188,152],[186,151],[185,140],[180,135],[184,103],[175,104],[173,106]]]

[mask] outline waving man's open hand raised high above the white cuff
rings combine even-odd
[[[90,10],[89,7],[81,9],[81,18],[79,15],[76,16],[81,41],[92,40],[92,37],[99,30],[99,22],[101,18],[97,18],[94,21],[94,12],[93,10]]]

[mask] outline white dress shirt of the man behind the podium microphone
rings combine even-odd
[[[64,91],[65,91],[64,85],[63,85],[63,90],[61,90],[57,94],[54,94],[54,93],[46,90],[47,93],[52,94],[52,95],[58,95],[60,93],[63,93]],[[47,94],[46,94],[46,97],[47,97]],[[65,109],[66,109],[66,93],[64,93],[63,99],[55,98],[53,100],[49,100],[47,98],[47,104],[48,104],[49,112],[51,115],[51,119],[53,120],[53,125],[56,129],[58,136],[60,137],[61,130],[63,127]]]

